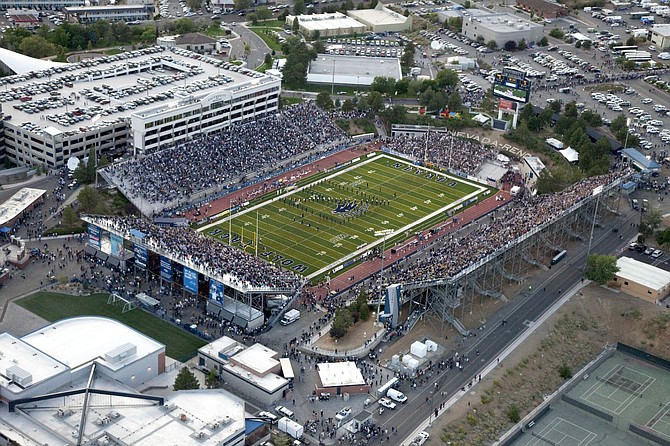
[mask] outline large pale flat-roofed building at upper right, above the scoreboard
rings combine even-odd
[[[544,27],[529,20],[507,13],[490,13],[478,9],[469,9],[469,15],[463,17],[462,34],[468,39],[484,42],[494,40],[498,48],[512,41],[519,43],[524,39],[527,44],[538,42],[544,35]]]

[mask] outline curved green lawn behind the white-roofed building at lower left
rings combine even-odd
[[[121,308],[107,305],[109,294],[70,296],[68,294],[38,292],[16,303],[49,322],[75,316],[103,316],[116,319],[129,327],[165,344],[166,354],[178,361],[186,361],[206,344],[197,336],[163,321],[139,308],[121,313]],[[85,335],[85,333],[82,333]]]

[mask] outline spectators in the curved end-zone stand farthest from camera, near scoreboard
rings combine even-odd
[[[484,161],[496,156],[493,149],[476,141],[437,132],[428,134],[427,143],[426,135],[403,135],[387,139],[384,146],[415,160],[427,160],[439,167],[469,175],[475,175]]]

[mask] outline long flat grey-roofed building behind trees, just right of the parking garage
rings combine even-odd
[[[313,84],[370,86],[377,76],[402,79],[400,59],[319,54],[307,69],[307,82]]]

